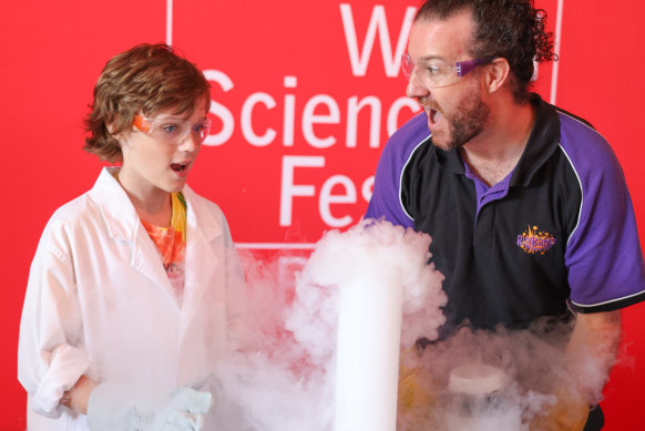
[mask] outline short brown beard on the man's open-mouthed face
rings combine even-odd
[[[449,135],[446,136],[447,140],[441,140],[441,136],[437,136],[439,137],[437,140],[433,134],[432,143],[444,151],[463,146],[484,129],[490,112],[490,107],[483,102],[481,95],[474,93],[462,101],[461,109],[454,114],[442,113],[443,120],[449,125]]]

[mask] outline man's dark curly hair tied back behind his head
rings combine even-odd
[[[473,59],[504,58],[511,66],[516,102],[529,99],[535,62],[557,60],[553,33],[545,30],[546,12],[533,0],[427,0],[414,21],[446,20],[470,10],[474,22]]]

